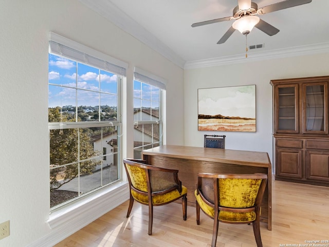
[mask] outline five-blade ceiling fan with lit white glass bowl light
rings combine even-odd
[[[239,30],[245,36],[247,36],[247,34],[251,31],[253,27],[257,27],[269,36],[273,36],[277,34],[280,30],[261,20],[257,15],[262,15],[281,9],[287,9],[298,5],[308,4],[312,2],[312,0],[285,0],[262,8],[258,8],[258,5],[256,3],[251,2],[251,0],[238,0],[237,2],[238,5],[233,9],[233,16],[193,23],[192,27],[235,20],[230,29],[227,30],[227,32],[217,42],[217,44],[225,43],[225,41],[227,41],[227,39],[236,29]]]

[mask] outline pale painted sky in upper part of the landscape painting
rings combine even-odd
[[[256,117],[255,85],[198,90],[198,114]]]

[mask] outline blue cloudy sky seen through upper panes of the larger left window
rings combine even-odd
[[[99,100],[101,105],[117,105],[115,74],[49,54],[48,79],[55,84],[49,85],[49,107],[75,106],[76,95],[78,106],[94,107]]]

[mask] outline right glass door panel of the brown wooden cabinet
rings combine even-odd
[[[326,83],[305,84],[303,88],[303,132],[327,133],[326,126]]]

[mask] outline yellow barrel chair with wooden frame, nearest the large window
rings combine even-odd
[[[187,188],[178,179],[178,170],[146,164],[142,160],[126,158],[123,164],[130,185],[129,217],[134,200],[149,206],[149,235],[152,235],[153,206],[160,206],[182,198],[183,219],[187,216]]]

